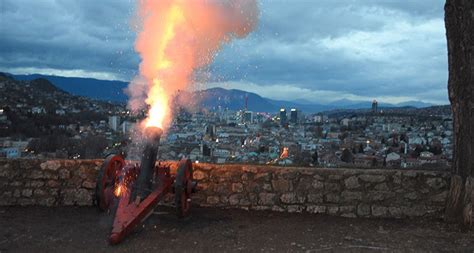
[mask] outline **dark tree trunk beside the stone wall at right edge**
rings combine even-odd
[[[448,93],[453,112],[454,157],[446,219],[472,228],[474,203],[474,1],[447,0]]]

